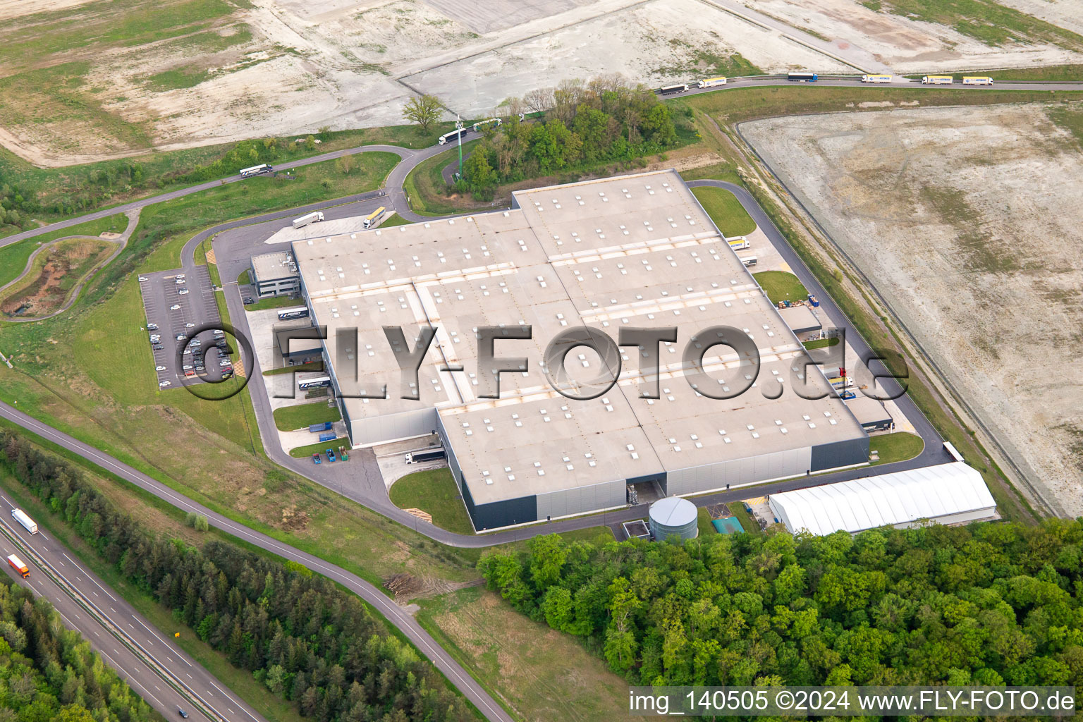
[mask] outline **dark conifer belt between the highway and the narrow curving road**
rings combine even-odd
[[[300,565],[232,544],[156,538],[64,460],[0,435],[15,477],[200,639],[319,722],[472,720],[433,668],[361,600]]]

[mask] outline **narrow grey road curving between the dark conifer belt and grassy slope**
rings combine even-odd
[[[83,444],[77,438],[41,423],[37,419],[23,413],[8,404],[0,403],[0,417],[8,419],[9,421],[13,421],[27,431],[30,431],[69,451],[78,454],[83,459],[101,467],[106,472],[115,474],[126,482],[134,484],[141,489],[149,491],[154,496],[169,502],[182,511],[195,512],[206,516],[207,520],[216,527],[232,534],[243,541],[255,544],[260,549],[265,549],[266,551],[277,554],[283,559],[299,562],[309,569],[324,575],[331,581],[342,585],[371,604],[378,613],[388,619],[388,621],[399,628],[399,630],[420,651],[420,653],[432,661],[436,669],[439,669],[448,679],[448,681],[462,693],[464,697],[469,699],[479,710],[481,710],[481,713],[485,717],[485,719],[496,722],[512,722],[511,717],[488,695],[487,692],[481,687],[480,684],[478,684],[473,678],[470,677],[465,669],[462,669],[457,661],[451,657],[449,654],[447,654],[447,652],[444,651],[443,647],[436,643],[435,640],[432,639],[432,635],[429,634],[429,632],[427,632],[408,612],[395,604],[392,600],[388,599],[388,596],[379,589],[357,575],[347,572],[340,566],[329,564],[318,556],[309,554],[308,552],[303,552],[299,549],[290,547],[289,544],[280,542],[265,534],[249,529],[247,526],[238,524],[237,522],[234,522],[233,520],[223,516],[222,514],[219,514],[218,512],[212,511],[196,501],[193,501],[184,495],[174,491],[161,482],[147,476],[143,472],[132,469],[128,464],[122,463],[107,454],[99,451],[92,446]],[[231,719],[230,722],[236,722],[236,718]]]

